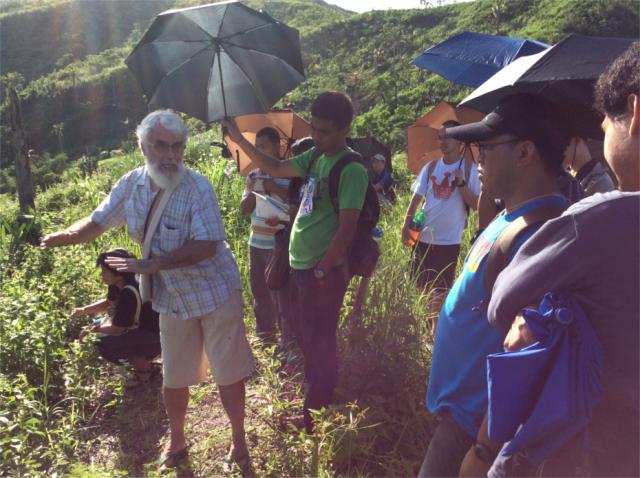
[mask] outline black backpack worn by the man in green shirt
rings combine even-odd
[[[338,189],[340,186],[340,175],[347,164],[358,162],[366,169],[366,164],[359,153],[353,152],[344,155],[333,165],[329,172],[329,198],[333,204],[336,214],[339,214]],[[356,233],[347,248],[347,266],[349,274],[361,277],[371,277],[376,268],[378,257],[380,257],[380,246],[373,239],[372,230],[380,219],[380,203],[378,194],[373,189],[371,183],[367,184],[364,203],[358,217]]]

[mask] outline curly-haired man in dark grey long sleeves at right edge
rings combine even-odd
[[[620,191],[583,199],[540,228],[496,281],[488,307],[492,325],[510,329],[505,347],[518,350],[532,338],[522,317],[514,321],[520,309],[547,291],[569,292],[602,347],[603,397],[589,439],[580,433],[536,476],[578,476],[578,467],[581,476],[640,475],[640,42],[600,76],[595,99]],[[504,474],[500,464],[490,476]]]

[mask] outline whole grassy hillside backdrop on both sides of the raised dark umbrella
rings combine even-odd
[[[117,148],[147,112],[123,59],[155,13],[202,3],[206,0],[50,1],[28,2],[23,9],[10,4],[13,9],[0,17],[2,55],[8,55],[2,58],[3,73],[15,68],[26,78],[22,96],[29,147],[50,153],[62,149],[70,159]],[[287,102],[304,112],[322,90],[347,91],[358,113],[355,133],[376,135],[394,149],[404,147],[406,127],[430,106],[468,91],[409,65],[449,35],[473,30],[554,43],[569,33],[637,37],[640,23],[636,0],[477,0],[361,15],[321,0],[247,3],[300,29],[307,80]],[[24,33],[34,31],[38,34]],[[0,169],[8,168],[11,175],[4,117],[0,128],[5,128],[0,130]],[[8,190],[6,184],[0,190]]]

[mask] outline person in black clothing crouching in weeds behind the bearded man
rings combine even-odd
[[[118,272],[105,262],[108,257],[135,258],[126,249],[112,249],[98,256],[107,298],[71,312],[72,317],[106,313],[93,321],[89,332],[99,335],[100,355],[113,363],[126,360],[138,373],[151,370],[151,360],[160,354],[159,316],[151,302],[141,303],[138,283],[131,272]],[[84,335],[84,334],[83,334]]]

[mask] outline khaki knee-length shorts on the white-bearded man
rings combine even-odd
[[[163,385],[183,388],[207,380],[231,385],[248,377],[255,364],[244,329],[242,293],[202,317],[183,320],[160,314]]]

